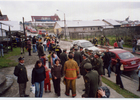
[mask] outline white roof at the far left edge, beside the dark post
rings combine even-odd
[[[21,31],[20,25],[18,21],[0,21],[3,24],[11,25],[10,29],[11,31]],[[2,29],[9,30],[9,27],[7,25],[2,25]]]

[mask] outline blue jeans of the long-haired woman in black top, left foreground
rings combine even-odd
[[[43,96],[44,81],[35,82],[35,97]]]

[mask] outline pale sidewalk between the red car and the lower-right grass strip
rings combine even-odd
[[[106,75],[103,75],[103,77],[105,77],[106,79],[116,83],[115,73],[111,72],[110,76],[111,77],[108,77],[107,71],[106,71]],[[133,80],[131,78],[128,79],[128,78],[125,78],[125,77],[122,77],[122,76],[121,76],[121,79],[122,79],[124,89],[132,92],[133,94],[135,94],[137,96],[140,96],[140,92],[137,92],[137,89],[138,89],[138,86],[139,86],[138,81],[135,81],[135,80]]]

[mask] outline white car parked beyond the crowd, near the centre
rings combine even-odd
[[[92,50],[93,53],[99,52],[100,49],[95,47],[91,42],[87,40],[75,40],[72,42],[73,44],[77,44],[78,47],[83,47],[84,49]]]

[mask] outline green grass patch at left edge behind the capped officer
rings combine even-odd
[[[16,66],[18,63],[11,59],[11,57],[20,55],[20,52],[20,48],[13,48],[13,51],[5,53],[3,58],[0,57],[0,68]]]

